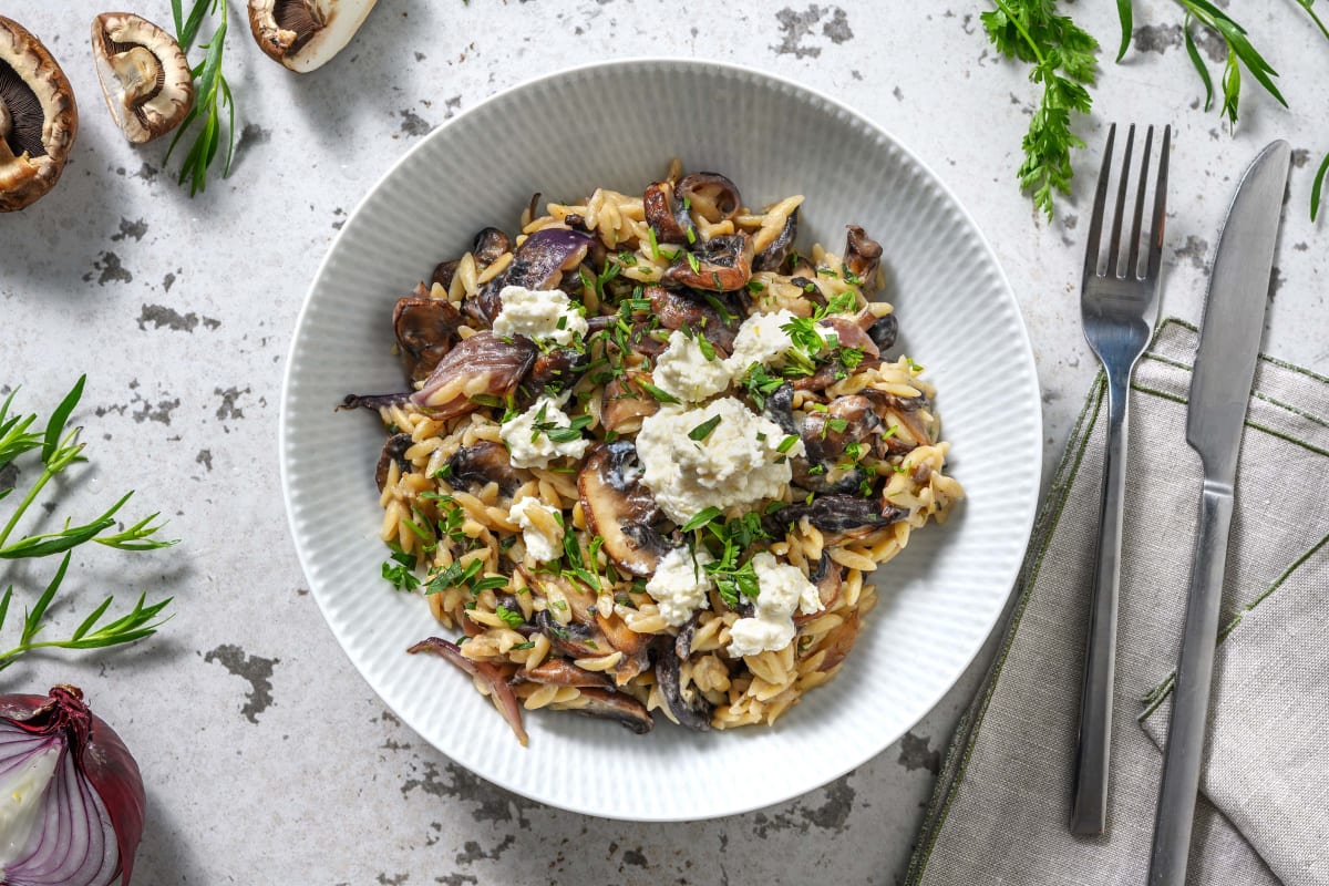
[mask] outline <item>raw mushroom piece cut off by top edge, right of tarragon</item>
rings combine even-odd
[[[342,52],[373,4],[375,0],[250,0],[250,31],[270,58],[303,74]]]

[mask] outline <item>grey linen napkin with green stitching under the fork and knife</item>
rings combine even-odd
[[[1106,402],[1095,381],[962,717],[910,863],[916,886],[1144,883],[1200,495],[1185,444],[1195,327],[1135,372],[1108,832],[1067,830]],[[1237,472],[1225,624],[1188,883],[1329,883],[1329,379],[1261,357]]]

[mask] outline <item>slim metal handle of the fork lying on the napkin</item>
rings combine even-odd
[[[1126,501],[1126,438],[1130,367],[1107,373],[1107,449],[1088,646],[1080,687],[1079,736],[1070,828],[1100,834],[1107,826],[1107,773],[1112,748],[1112,681],[1116,668],[1116,598],[1122,570],[1122,522]]]

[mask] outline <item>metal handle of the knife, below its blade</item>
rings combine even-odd
[[[1213,683],[1213,652],[1219,639],[1219,610],[1232,526],[1232,486],[1204,481],[1200,495],[1200,534],[1191,563],[1191,590],[1185,603],[1181,658],[1172,685],[1172,721],[1163,754],[1150,855],[1150,886],[1183,886],[1191,850],[1195,796],[1204,762],[1204,727]]]

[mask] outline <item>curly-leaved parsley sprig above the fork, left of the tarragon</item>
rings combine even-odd
[[[1071,132],[1071,112],[1087,114],[1098,69],[1098,41],[1069,16],[1055,13],[1054,0],[993,0],[981,19],[997,52],[1033,64],[1029,78],[1043,85],[1043,97],[1025,134],[1025,161],[1015,175],[1034,206],[1053,218],[1055,193],[1069,194],[1071,150],[1084,142]]]

